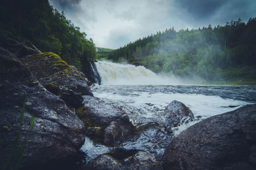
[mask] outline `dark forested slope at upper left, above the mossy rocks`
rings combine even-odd
[[[61,55],[68,64],[84,69],[95,59],[96,48],[64,13],[47,0],[3,0],[0,32],[20,41],[30,41],[42,52]]]

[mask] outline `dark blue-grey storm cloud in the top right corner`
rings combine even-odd
[[[239,17],[248,20],[256,15],[255,0],[175,0],[175,5],[188,12],[188,16],[192,17],[190,22],[194,22],[194,25],[221,25]]]

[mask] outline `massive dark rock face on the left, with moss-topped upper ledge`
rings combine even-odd
[[[15,166],[26,136],[28,143],[20,167],[74,157],[84,143],[86,129],[69,109],[78,107],[70,101],[83,102],[80,94],[92,96],[83,74],[54,53],[40,53],[29,43],[1,36],[0,75],[0,164],[8,162],[14,150],[7,169]],[[47,90],[43,85],[55,89]],[[34,127],[28,131],[32,117]],[[19,127],[20,138],[14,148]]]

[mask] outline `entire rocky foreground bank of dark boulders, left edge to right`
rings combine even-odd
[[[1,36],[0,75],[0,165],[7,162],[7,169],[17,164],[22,141],[20,169],[255,168],[255,104],[202,120],[174,138],[173,127],[195,120],[183,103],[172,101],[145,119],[93,97],[84,73],[30,43]],[[77,164],[85,136],[113,150]]]

